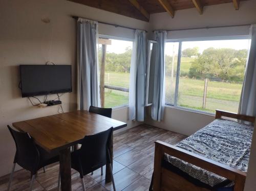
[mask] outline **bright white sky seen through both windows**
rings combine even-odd
[[[106,51],[109,53],[121,54],[125,52],[126,47],[133,47],[132,41],[126,40],[115,40],[111,39],[111,45],[106,46]],[[208,41],[186,41],[182,42],[182,50],[187,48],[193,48],[198,46],[199,52],[202,53],[205,49],[209,47],[214,47],[216,49],[221,48],[231,48],[236,50],[248,49],[250,40],[248,39],[239,39],[239,40],[208,40]],[[175,54],[178,54],[178,42],[167,42],[165,45],[165,54],[172,56],[173,47]]]

